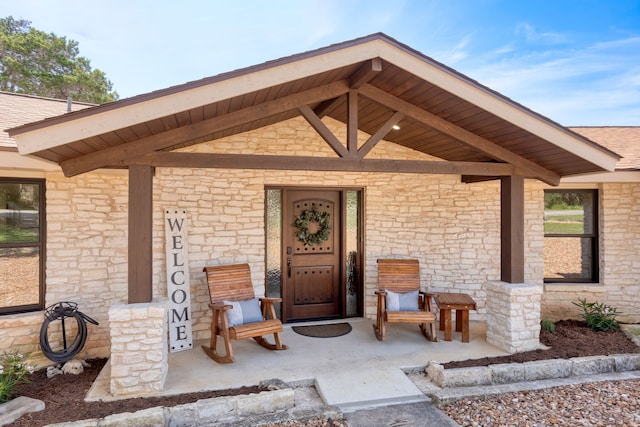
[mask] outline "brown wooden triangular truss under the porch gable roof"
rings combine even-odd
[[[456,174],[496,178],[522,175],[537,177],[557,185],[560,176],[499,145],[469,132],[435,114],[368,84],[382,69],[379,59],[368,61],[351,78],[266,101],[187,126],[167,130],[126,144],[71,158],[61,162],[66,176],[74,176],[101,167],[242,168],[242,169],[306,169],[322,171],[362,171]],[[324,124],[322,117],[333,105],[347,99],[347,141],[341,142]],[[358,102],[366,97],[391,109],[393,114],[358,147]],[[311,105],[317,104],[315,108]],[[179,147],[203,141],[212,135],[250,121],[266,119],[283,112],[295,111],[335,152],[336,157],[268,156],[246,154],[206,154],[172,152]],[[367,159],[366,155],[402,119],[411,119],[441,132],[463,145],[473,148],[494,162],[459,162],[425,160]]]

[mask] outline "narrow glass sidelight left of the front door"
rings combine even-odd
[[[282,191],[266,192],[267,278],[266,296],[282,297]],[[276,303],[278,318],[282,318],[281,303]]]

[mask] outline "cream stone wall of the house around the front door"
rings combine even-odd
[[[344,126],[330,123],[344,140]],[[361,143],[364,136],[360,138]],[[189,147],[185,151],[334,156],[303,119]],[[370,158],[431,159],[381,142]],[[109,309],[127,300],[128,178],[97,171],[47,182],[46,306],[73,301],[100,324],[89,325],[83,357],[111,352]],[[158,168],[154,177],[154,300],[166,298],[163,209],[186,209],[194,340],[209,337],[210,312],[202,267],[248,262],[256,293],[264,293],[265,186],[362,188],[365,203],[365,312],[375,316],[376,259],[417,258],[425,287],[465,292],[478,303],[472,320],[487,319],[485,283],[500,279],[500,185],[464,184],[455,175]],[[525,282],[542,285],[543,191],[525,183]],[[601,281],[545,285],[542,318],[577,317],[578,296],[617,306],[640,322],[640,184],[600,189]],[[0,350],[37,353],[42,313],[0,317]],[[26,331],[26,332],[25,332]],[[22,336],[29,338],[20,338]],[[37,354],[36,354],[37,355]]]

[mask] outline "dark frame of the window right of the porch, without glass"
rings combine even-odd
[[[599,224],[600,224],[600,198],[599,191],[593,188],[558,188],[558,189],[549,189],[544,190],[544,194],[547,193],[589,193],[592,195],[592,209],[593,209],[593,230],[591,233],[583,233],[583,234],[547,234],[544,233],[544,239],[546,241],[547,237],[553,238],[588,238],[591,239],[591,277],[575,277],[575,278],[557,278],[557,277],[543,277],[543,282],[545,284],[597,284],[600,281],[600,232],[599,232]],[[544,210],[544,206],[543,206]],[[544,225],[544,220],[543,220]],[[544,263],[544,261],[543,261]],[[544,273],[543,273],[544,275]]]

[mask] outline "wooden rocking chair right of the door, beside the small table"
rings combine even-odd
[[[426,338],[438,341],[431,295],[420,290],[418,260],[379,259],[378,287],[378,312],[373,329],[379,341],[385,339],[387,322],[417,323]]]

